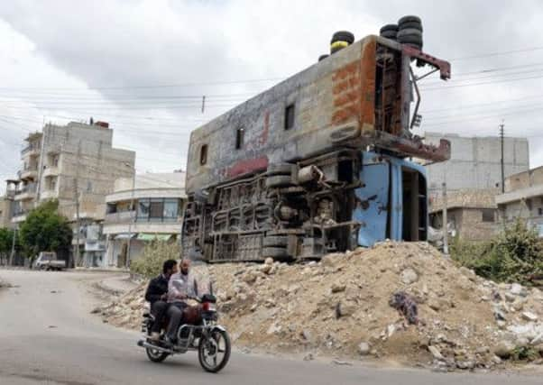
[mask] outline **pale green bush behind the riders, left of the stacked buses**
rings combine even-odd
[[[142,255],[137,260],[130,263],[130,270],[143,277],[155,277],[161,273],[164,261],[179,260],[180,255],[179,243],[154,240],[145,245]]]

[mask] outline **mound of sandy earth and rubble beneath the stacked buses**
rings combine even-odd
[[[457,268],[428,243],[378,243],[321,261],[216,264],[220,321],[247,350],[378,358],[438,371],[502,367],[518,352],[543,357],[543,293]],[[139,328],[142,285],[100,312]],[[414,298],[417,325],[391,307]]]

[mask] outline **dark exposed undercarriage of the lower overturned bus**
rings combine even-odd
[[[208,261],[316,258],[353,248],[360,224],[350,218],[360,167],[360,152],[345,148],[273,165],[212,188],[202,200],[190,197],[184,247],[203,245]]]

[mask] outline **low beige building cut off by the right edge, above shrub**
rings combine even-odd
[[[505,193],[496,197],[496,204],[502,224],[520,218],[543,236],[543,166],[505,179]]]

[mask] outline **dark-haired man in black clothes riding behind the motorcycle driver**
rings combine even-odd
[[[170,307],[168,303],[168,283],[170,277],[178,272],[178,263],[175,260],[164,261],[162,273],[149,282],[145,291],[145,300],[151,304],[151,314],[154,316],[154,324],[151,330],[152,341],[158,341],[161,336],[161,325],[164,316]]]

